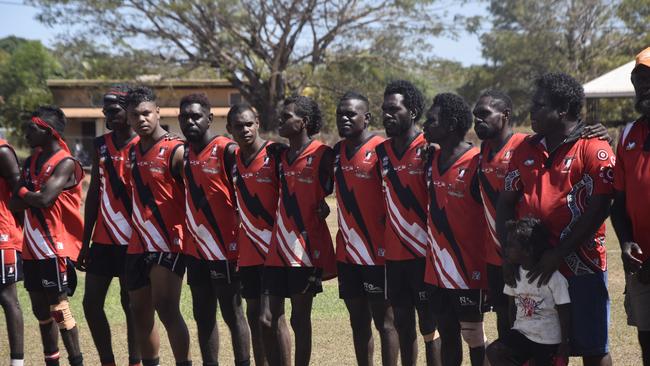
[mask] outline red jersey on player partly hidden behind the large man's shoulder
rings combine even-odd
[[[485,141],[481,144],[478,177],[489,230],[489,236],[485,242],[485,255],[488,263],[497,266],[503,262],[501,243],[499,243],[496,230],[497,201],[499,193],[503,192],[503,180],[508,173],[512,152],[524,141],[526,136],[523,133],[513,134],[499,151],[492,151],[490,144]]]

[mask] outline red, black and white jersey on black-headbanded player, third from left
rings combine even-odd
[[[99,170],[99,212],[93,242],[129,245],[131,239],[131,192],[125,182],[129,151],[140,137],[124,146],[115,146],[115,135],[107,133],[95,139]]]

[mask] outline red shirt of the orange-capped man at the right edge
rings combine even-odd
[[[628,123],[616,150],[614,189],[625,192],[625,208],[632,223],[632,240],[643,261],[650,258],[650,126],[648,120]]]

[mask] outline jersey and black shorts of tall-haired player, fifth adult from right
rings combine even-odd
[[[400,156],[392,139],[377,145],[386,205],[386,287],[393,305],[422,307],[427,252],[427,142],[418,134]]]

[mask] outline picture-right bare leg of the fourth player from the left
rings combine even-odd
[[[182,259],[179,258],[178,261]],[[176,259],[174,262],[177,262]],[[178,265],[184,266],[182,263]],[[149,272],[149,278],[153,306],[167,330],[176,364],[182,365],[190,360],[190,334],[180,309],[183,276],[175,273],[174,269],[154,264]]]

